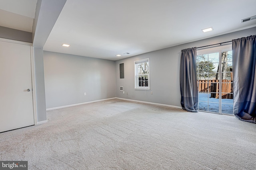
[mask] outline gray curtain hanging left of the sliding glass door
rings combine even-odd
[[[180,93],[182,108],[187,111],[198,112],[196,47],[181,51]]]

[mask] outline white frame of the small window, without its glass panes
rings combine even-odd
[[[138,82],[138,64],[148,62],[148,74],[142,74],[148,76],[148,86],[139,87]],[[150,90],[150,61],[149,58],[134,61],[134,89],[135,90]]]

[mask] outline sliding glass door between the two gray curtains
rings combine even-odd
[[[197,55],[198,109],[233,113],[231,50],[204,50]]]

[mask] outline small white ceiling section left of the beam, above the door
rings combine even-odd
[[[37,0],[0,0],[0,25],[32,32]]]

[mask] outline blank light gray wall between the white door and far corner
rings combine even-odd
[[[114,61],[44,51],[46,108],[114,98],[115,75]]]

